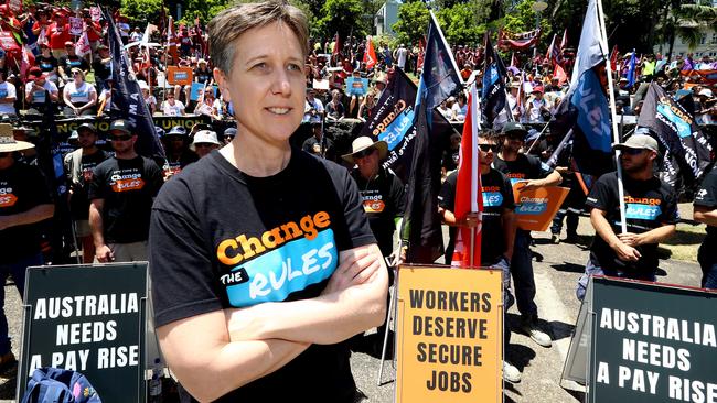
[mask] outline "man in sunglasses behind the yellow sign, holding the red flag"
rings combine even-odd
[[[484,131],[478,138],[479,170],[481,174],[481,195],[483,197],[483,215],[481,229],[481,266],[501,270],[503,273],[503,292],[506,301],[504,312],[513,304],[510,295],[510,265],[513,258],[515,239],[515,215],[513,213],[513,189],[505,175],[493,168],[491,164],[499,151],[497,135]],[[446,264],[450,265],[456,249],[458,227],[475,227],[479,221],[475,215],[456,217],[456,186],[458,171],[448,175],[438,196],[438,214],[443,224],[449,226],[448,244],[446,247]],[[503,320],[506,325],[507,322]],[[509,346],[511,330],[505,326],[503,331],[504,345]],[[503,378],[512,383],[521,381],[521,371],[503,360]]]

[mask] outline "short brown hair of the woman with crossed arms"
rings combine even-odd
[[[234,42],[246,31],[272,22],[288,26],[297,35],[306,57],[309,53],[307,15],[286,0],[269,0],[259,3],[235,4],[212,19],[207,30],[210,54],[214,65],[224,74],[231,74],[234,61]]]

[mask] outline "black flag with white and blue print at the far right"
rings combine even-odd
[[[687,186],[699,181],[713,163],[713,148],[695,119],[655,83],[648,88],[638,127],[657,135],[664,148],[664,168],[660,177],[672,185],[684,178]]]

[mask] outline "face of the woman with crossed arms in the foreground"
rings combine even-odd
[[[289,28],[254,28],[233,44],[232,74],[215,69],[224,99],[234,105],[239,133],[283,144],[301,123],[304,56]]]

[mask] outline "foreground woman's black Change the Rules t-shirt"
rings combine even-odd
[[[215,151],[169,181],[154,204],[156,326],[317,297],[339,252],[375,242],[356,184],[343,167],[292,149],[283,171],[252,177]],[[312,345],[218,401],[352,401],[349,357],[345,344]]]

